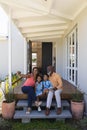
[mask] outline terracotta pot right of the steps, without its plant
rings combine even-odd
[[[71,101],[71,112],[74,119],[81,119],[84,113],[84,102]]]

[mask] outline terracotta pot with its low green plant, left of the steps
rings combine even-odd
[[[5,100],[2,102],[2,116],[5,119],[11,119],[15,112],[15,98],[13,89],[10,88],[7,93],[4,93]]]

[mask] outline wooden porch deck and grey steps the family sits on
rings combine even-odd
[[[15,115],[14,119],[21,119],[22,123],[28,123],[30,122],[31,119],[63,119],[65,120],[66,118],[72,118],[72,114],[70,111],[70,99],[72,93],[75,93],[76,88],[74,85],[69,83],[68,81],[63,79],[63,92],[61,94],[62,97],[62,113],[60,115],[56,114],[56,102],[53,100],[52,106],[51,106],[51,112],[49,116],[45,115],[45,106],[46,106],[46,100],[43,100],[43,103],[41,105],[41,112],[37,111],[37,108],[35,105],[32,105],[32,112],[30,114],[26,114],[27,110],[27,95],[23,94],[21,92],[21,86],[24,81],[20,83],[20,86],[17,86],[14,89],[14,94],[17,100],[16,104],[16,110],[15,110]]]

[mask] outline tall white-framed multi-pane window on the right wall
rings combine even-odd
[[[77,26],[67,36],[67,79],[74,85],[78,83],[78,38]]]

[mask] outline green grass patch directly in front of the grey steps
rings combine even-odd
[[[12,130],[77,130],[74,126],[64,121],[55,120],[31,120],[23,124],[20,121],[11,121]]]

